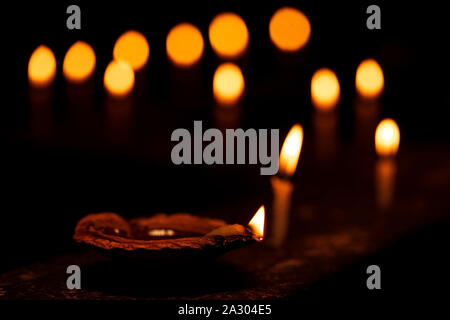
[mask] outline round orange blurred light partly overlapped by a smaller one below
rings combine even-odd
[[[138,31],[130,30],[123,33],[113,49],[113,56],[116,60],[127,61],[133,70],[142,69],[148,60],[150,48],[147,39]]]

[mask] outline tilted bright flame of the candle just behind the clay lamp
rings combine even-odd
[[[298,158],[303,144],[303,128],[294,125],[289,131],[281,147],[279,171],[281,174],[292,176],[297,168]]]

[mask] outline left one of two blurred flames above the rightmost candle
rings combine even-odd
[[[311,79],[311,99],[319,110],[331,110],[339,101],[339,81],[335,73],[326,68],[317,70]]]

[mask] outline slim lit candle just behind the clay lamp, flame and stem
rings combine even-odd
[[[297,168],[302,145],[303,128],[296,124],[289,131],[281,147],[279,176],[273,176],[270,180],[273,190],[273,221],[269,244],[274,248],[279,248],[286,239],[291,196],[294,190],[289,178]]]

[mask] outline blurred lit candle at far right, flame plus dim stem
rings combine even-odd
[[[375,131],[375,150],[378,160],[375,165],[377,202],[381,209],[390,207],[394,194],[397,162],[395,155],[400,144],[400,130],[392,119],[381,121]]]

